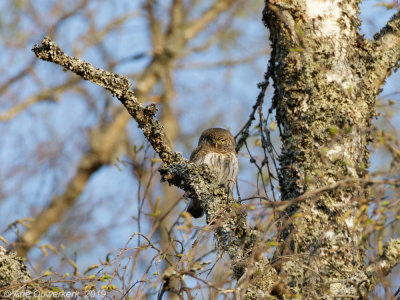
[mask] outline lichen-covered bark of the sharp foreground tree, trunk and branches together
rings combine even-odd
[[[377,275],[390,272],[400,257],[399,241],[393,240],[376,263],[366,266],[356,220],[358,203],[368,196],[366,146],[374,103],[397,66],[400,39],[397,14],[374,41],[365,40],[358,34],[357,5],[266,3],[264,21],[273,47],[268,74],[274,80],[273,108],[283,143],[279,181],[282,199],[294,199],[284,202],[292,205],[280,215],[281,246],[274,265],[264,257],[260,235],[248,225],[243,208],[213,183],[206,166],[172,151],[154,117],[156,107],[140,105],[126,77],[69,57],[49,38],[33,50],[122,102],[164,162],[163,180],[202,200],[218,248],[232,260],[238,298],[363,298]],[[383,48],[390,57],[377,52]]]

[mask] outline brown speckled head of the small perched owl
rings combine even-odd
[[[223,128],[209,128],[203,131],[199,146],[208,145],[219,151],[235,151],[235,140],[232,134]]]

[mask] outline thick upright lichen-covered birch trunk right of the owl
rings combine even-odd
[[[358,1],[270,1],[273,108],[282,149],[284,200],[323,186],[280,215],[278,273],[301,299],[362,298],[372,284],[364,262],[357,184],[369,164],[374,103],[394,64],[377,55],[379,37],[360,36]],[[382,53],[383,55],[383,53]],[[351,186],[340,182],[353,182]]]

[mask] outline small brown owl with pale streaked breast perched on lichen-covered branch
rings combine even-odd
[[[235,151],[235,140],[232,134],[223,128],[209,128],[200,136],[197,148],[190,155],[195,164],[206,164],[216,175],[217,183],[226,187],[233,195],[239,162]],[[203,208],[198,199],[191,199],[187,211],[194,217],[203,215]]]

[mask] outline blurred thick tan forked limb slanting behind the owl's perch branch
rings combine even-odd
[[[154,1],[149,0],[145,8],[148,10],[150,20],[151,21],[151,31],[152,36],[154,38],[154,47],[156,55],[154,59],[150,62],[150,64],[146,67],[145,71],[139,76],[136,82],[135,92],[136,95],[139,97],[146,97],[146,95],[150,92],[151,88],[156,84],[156,82],[160,78],[164,78],[165,88],[166,90],[169,88],[169,92],[166,98],[171,98],[171,84],[168,84],[168,76],[169,76],[169,67],[171,66],[173,60],[175,59],[174,56],[165,56],[162,55],[163,52],[163,44],[164,44],[164,35],[161,28],[161,23],[157,21],[154,16]],[[171,41],[167,44],[173,45],[173,49],[171,48],[174,53],[178,54],[181,52],[183,47],[182,43],[178,43],[180,36],[182,36],[181,30],[179,30],[180,23],[182,22],[183,16],[180,15],[182,10],[182,3],[180,0],[176,0],[172,5],[172,15],[171,24],[169,25],[168,30],[168,38]],[[158,49],[158,50],[157,50]],[[74,79],[76,80],[76,78]],[[127,80],[127,79],[126,79]],[[164,100],[166,100],[166,98]],[[143,99],[142,99],[143,100]],[[36,100],[35,100],[36,101]],[[33,101],[29,101],[29,104]],[[168,101],[164,103],[166,106],[164,107],[163,116],[165,117],[166,112],[169,111],[168,109]],[[21,105],[22,106],[22,105]],[[23,108],[25,108],[25,103],[23,103]],[[19,108],[19,106],[18,106]],[[14,109],[12,109],[14,111]],[[10,115],[10,114],[9,114]],[[124,112],[120,113],[117,119],[124,119],[124,123],[128,121],[128,118]],[[1,116],[0,116],[1,119]],[[165,118],[164,118],[165,120]],[[173,122],[167,122],[166,124],[170,124]],[[113,124],[110,124],[108,127],[113,127]],[[174,127],[174,126],[173,126]],[[176,127],[176,126],[175,126]],[[171,135],[171,133],[177,133],[176,130],[173,128],[166,128],[169,129],[166,132]],[[97,136],[97,139],[92,139],[92,142],[96,142],[96,140],[103,140],[107,138],[108,130],[102,132],[100,138]],[[117,136],[117,135],[115,135]],[[172,137],[173,138],[173,137]],[[114,141],[115,142],[115,141]],[[107,141],[107,143],[103,143],[103,145],[108,145],[109,148],[113,148],[114,142]],[[101,143],[100,143],[101,144]],[[98,148],[98,147],[97,147]],[[35,245],[42,234],[44,234],[48,228],[57,222],[65,210],[69,209],[74,203],[76,199],[80,196],[80,193],[84,190],[86,182],[89,180],[90,176],[96,172],[99,168],[101,168],[104,164],[107,164],[111,161],[114,157],[110,151],[106,151],[105,147],[101,149],[94,149],[93,145],[91,145],[90,151],[85,153],[82,156],[81,162],[78,165],[78,169],[74,178],[71,180],[70,184],[68,185],[66,191],[63,195],[59,195],[54,197],[48,207],[46,207],[34,220],[32,229],[29,229],[25,232],[19,240],[13,244],[15,250],[17,250],[18,254],[21,256],[25,256],[27,251],[29,251],[30,247]],[[69,189],[72,189],[73,192],[70,192]]]

